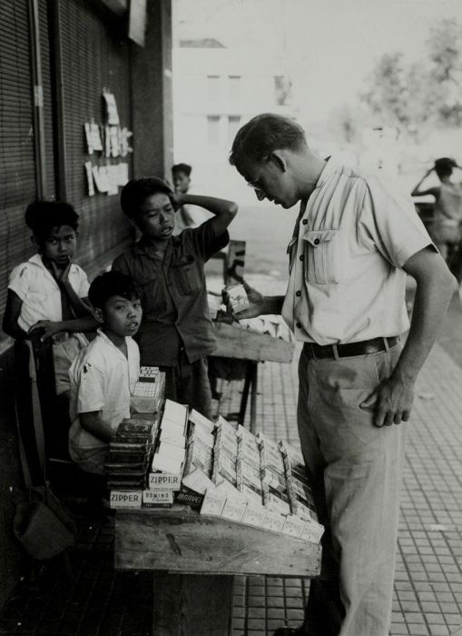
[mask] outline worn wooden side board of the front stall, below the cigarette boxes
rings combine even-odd
[[[319,545],[241,523],[172,511],[117,511],[115,568],[312,577]]]

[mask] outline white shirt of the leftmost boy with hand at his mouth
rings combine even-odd
[[[82,267],[75,263],[72,263],[69,270],[69,283],[79,298],[86,298],[88,279]],[[40,254],[34,254],[26,263],[15,267],[10,274],[8,289],[23,301],[18,325],[25,332],[39,320],[63,320],[60,289],[53,275],[46,269]]]

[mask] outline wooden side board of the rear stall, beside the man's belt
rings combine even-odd
[[[253,333],[227,323],[213,323],[218,345],[214,356],[270,363],[291,363],[294,344],[267,333]]]

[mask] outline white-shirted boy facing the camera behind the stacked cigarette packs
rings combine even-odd
[[[123,273],[95,278],[88,297],[102,326],[69,370],[69,453],[84,471],[103,473],[108,442],[123,418],[130,417],[130,395],[140,373],[132,336],[143,312],[133,281]]]

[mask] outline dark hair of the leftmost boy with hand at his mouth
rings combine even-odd
[[[79,215],[71,204],[62,201],[35,201],[25,210],[25,224],[34,236],[44,240],[54,227],[70,225],[77,231]]]

